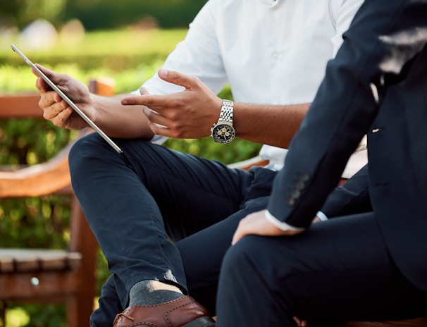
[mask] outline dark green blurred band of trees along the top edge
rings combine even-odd
[[[87,30],[134,25],[187,27],[206,0],[0,0],[0,27],[22,29],[37,19],[56,27],[77,18]]]

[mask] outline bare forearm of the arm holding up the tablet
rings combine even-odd
[[[120,100],[125,95],[128,94],[115,97],[100,97],[92,94],[94,106],[97,109],[96,116],[93,117],[94,123],[111,137],[150,139],[153,137],[153,132],[148,127],[142,106],[123,106]]]

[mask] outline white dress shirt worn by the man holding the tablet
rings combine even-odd
[[[230,83],[235,101],[308,103],[362,2],[209,0],[163,67],[197,76],[216,93]],[[156,74],[144,87],[152,94],[182,90]],[[153,141],[161,140],[154,137]],[[279,170],[286,152],[264,145],[260,155],[270,160],[268,168]],[[345,177],[366,161],[366,151],[357,160],[350,159]]]

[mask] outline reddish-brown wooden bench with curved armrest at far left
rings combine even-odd
[[[105,80],[92,81],[89,90],[112,95]],[[0,96],[0,119],[42,118],[39,94]],[[48,123],[48,122],[47,122]],[[80,132],[85,135],[91,130]],[[71,195],[68,249],[0,249],[0,301],[65,304],[68,327],[89,326],[96,290],[97,241],[70,187],[68,152],[71,144],[53,159],[0,171],[0,199]],[[6,217],[7,219],[8,217]],[[1,319],[5,323],[5,310]]]

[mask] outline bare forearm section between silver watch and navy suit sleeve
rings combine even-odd
[[[234,104],[233,125],[236,135],[245,140],[289,147],[310,104],[259,105]]]

